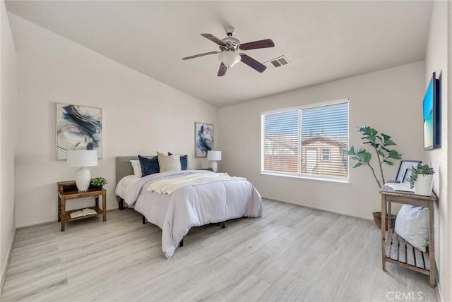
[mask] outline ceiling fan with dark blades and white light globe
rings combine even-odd
[[[207,38],[208,40],[215,42],[220,46],[220,50],[215,52],[205,52],[203,54],[195,54],[194,56],[186,56],[182,60],[189,60],[197,58],[198,56],[207,56],[208,54],[218,54],[218,59],[220,59],[220,69],[218,70],[218,76],[223,76],[226,74],[227,68],[231,68],[235,64],[242,61],[244,64],[256,69],[256,71],[262,73],[266,70],[266,66],[259,63],[255,59],[244,54],[243,52],[238,53],[240,50],[250,50],[258,48],[274,47],[275,43],[271,39],[258,40],[254,42],[240,43],[239,40],[232,37],[234,35],[235,29],[230,26],[226,29],[226,35],[224,39],[220,40],[211,34],[201,34],[201,36]]]

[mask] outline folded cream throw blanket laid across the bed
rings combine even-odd
[[[244,177],[229,176],[227,173],[189,174],[170,179],[160,179],[148,186],[148,191],[171,195],[179,188],[186,186],[213,183],[215,181],[246,181]]]

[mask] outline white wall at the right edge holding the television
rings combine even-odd
[[[432,9],[432,18],[430,20],[429,40],[427,44],[427,53],[425,56],[425,75],[424,87],[427,89],[429,80],[432,78],[432,73],[436,72],[436,77],[441,77],[441,148],[425,152],[427,162],[434,167],[436,173],[434,174],[434,191],[439,197],[437,207],[435,208],[435,260],[436,266],[439,269],[438,286],[441,298],[444,301],[452,301],[451,293],[451,236],[450,229],[451,216],[449,215],[448,207],[451,207],[451,188],[449,186],[449,178],[451,175],[450,164],[451,161],[449,138],[451,136],[448,131],[448,119],[451,107],[451,101],[448,99],[448,6],[451,6],[450,1],[434,1]]]

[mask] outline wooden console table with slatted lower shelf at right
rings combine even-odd
[[[415,195],[415,193],[395,191],[383,186],[381,193],[381,268],[386,272],[386,262],[401,265],[410,270],[427,274],[430,286],[435,287],[435,250],[434,250],[434,193],[430,196]],[[403,203],[416,207],[429,208],[429,247],[426,253],[413,248],[410,243],[399,237],[393,229],[386,234],[384,226],[391,215],[391,203]]]

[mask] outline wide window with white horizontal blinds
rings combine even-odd
[[[261,172],[348,178],[348,101],[261,115]]]

